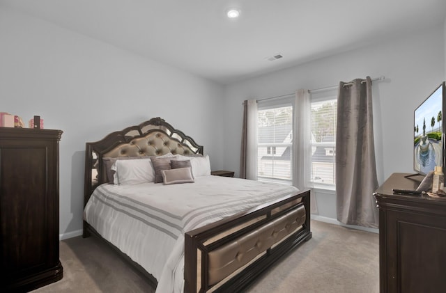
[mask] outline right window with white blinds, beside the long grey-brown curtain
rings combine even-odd
[[[336,97],[312,101],[312,181],[335,184]]]

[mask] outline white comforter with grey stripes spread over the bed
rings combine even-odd
[[[183,292],[184,233],[298,189],[238,178],[194,183],[102,184],[84,219],[158,281],[156,292]]]

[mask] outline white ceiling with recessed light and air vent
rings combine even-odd
[[[0,0],[229,84],[443,24],[445,0]],[[240,18],[225,16],[237,6]],[[282,54],[275,61],[267,57]]]

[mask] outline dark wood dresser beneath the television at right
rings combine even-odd
[[[446,291],[446,198],[394,194],[422,177],[392,174],[374,196],[379,208],[380,292]]]

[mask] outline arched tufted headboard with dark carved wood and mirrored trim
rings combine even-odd
[[[203,146],[163,119],[152,118],[140,125],[112,132],[100,141],[86,143],[84,205],[93,190],[107,182],[102,158],[203,154]]]

